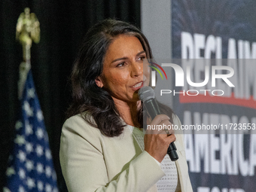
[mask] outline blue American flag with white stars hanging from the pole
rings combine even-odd
[[[56,172],[31,70],[24,84],[20,120],[15,130],[14,151],[9,157],[4,192],[57,192]]]

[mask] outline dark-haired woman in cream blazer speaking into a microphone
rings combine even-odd
[[[149,85],[143,59],[150,58],[148,40],[129,23],[103,20],[87,32],[72,70],[73,101],[60,144],[69,191],[192,191],[183,136],[141,129],[138,91]],[[170,108],[146,121],[181,125]],[[174,141],[175,162],[166,154]]]

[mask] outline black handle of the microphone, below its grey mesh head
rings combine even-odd
[[[154,119],[154,117],[157,116],[157,114],[160,114],[160,109],[158,107],[156,99],[148,99],[147,101],[145,101],[145,106],[152,120]],[[169,154],[169,157],[172,161],[178,160],[178,154],[176,150],[177,148],[174,142],[171,142],[167,150],[167,154]]]

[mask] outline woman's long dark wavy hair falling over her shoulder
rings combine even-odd
[[[96,85],[96,77],[102,75],[105,53],[118,35],[135,36],[142,43],[147,58],[152,58],[151,47],[142,32],[119,20],[103,20],[96,23],[85,35],[81,49],[72,69],[72,105],[67,117],[82,114],[90,125],[99,128],[102,134],[109,137],[120,136],[123,132],[123,121],[114,105],[111,95]],[[161,108],[160,104],[160,108]],[[171,114],[170,108],[163,107],[164,114]],[[93,118],[92,118],[93,117]],[[143,124],[142,108],[138,122]]]

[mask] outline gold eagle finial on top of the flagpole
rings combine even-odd
[[[40,23],[35,14],[29,14],[29,8],[25,8],[24,13],[20,14],[16,26],[16,38],[23,45],[24,61],[30,59],[30,48],[32,41],[40,41]]]

